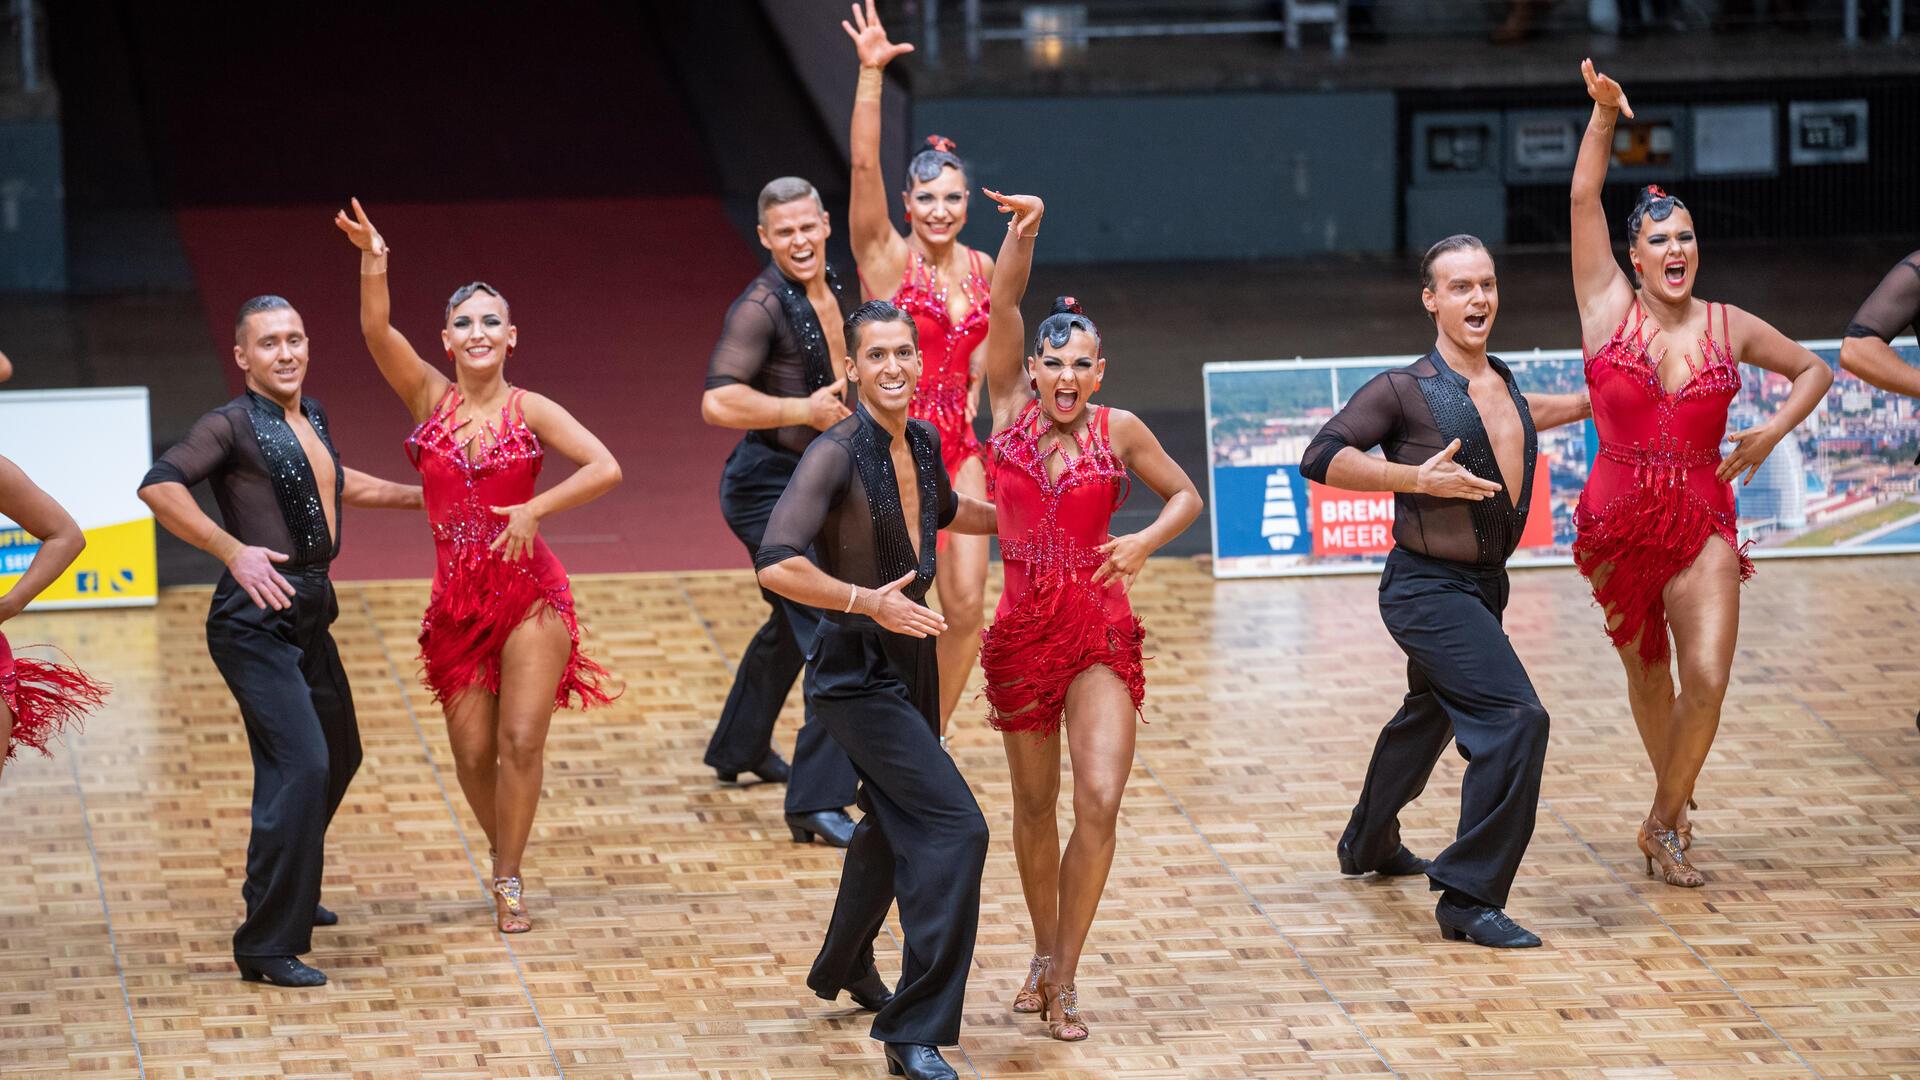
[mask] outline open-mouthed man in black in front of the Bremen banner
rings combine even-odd
[[[1448,940],[1538,945],[1501,909],[1534,834],[1548,711],[1500,617],[1534,490],[1536,430],[1586,417],[1586,394],[1521,394],[1486,354],[1500,292],[1480,240],[1434,244],[1421,286],[1438,329],[1432,352],[1354,392],[1300,461],[1309,480],[1396,492],[1380,617],[1407,653],[1407,698],[1373,748],[1340,871],[1425,872],[1444,890],[1434,915]],[[1367,454],[1375,446],[1384,459]],[[1467,759],[1459,832],[1428,863],[1400,844],[1400,807],[1427,786],[1448,738]]]

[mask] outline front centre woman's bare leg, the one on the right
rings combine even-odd
[[[1139,719],[1127,684],[1112,669],[1083,671],[1068,688],[1068,753],[1073,759],[1073,834],[1060,859],[1060,930],[1046,982],[1068,986],[1079,970],[1106,874],[1114,869],[1119,798],[1133,773]]]

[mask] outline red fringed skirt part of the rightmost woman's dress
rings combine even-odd
[[[1634,486],[1601,513],[1584,505],[1576,513],[1580,536],[1572,544],[1572,559],[1586,578],[1611,567],[1607,582],[1594,588],[1594,600],[1609,621],[1613,648],[1624,650],[1640,638],[1640,659],[1649,665],[1667,663],[1667,601],[1663,590],[1674,575],[1693,565],[1701,548],[1720,536],[1740,555],[1740,580],[1753,577],[1747,557],[1751,540],[1740,544],[1734,523],[1716,513],[1699,494],[1684,486]]]

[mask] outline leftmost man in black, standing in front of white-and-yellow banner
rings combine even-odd
[[[227,678],[253,751],[253,836],[246,920],[234,932],[242,978],[321,986],[300,963],[321,907],[326,826],[359,769],[359,724],[340,651],[326,565],[340,553],[340,505],[420,509],[420,488],[340,467],[326,411],[300,392],[307,331],[278,296],[240,306],[234,363],[246,394],[200,417],[140,480],[169,532],[227,563],[207,609],[207,651]],[[213,484],[225,528],[188,492]]]

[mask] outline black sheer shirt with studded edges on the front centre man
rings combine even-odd
[[[804,557],[812,548],[820,569],[843,582],[879,588],[914,571],[902,592],[920,603],[933,584],[935,536],[960,503],[941,463],[941,436],[925,421],[906,421],[920,480],[920,521],[908,523],[893,473],[893,436],[864,405],[820,432],[774,505],[755,569]],[[908,528],[920,530],[914,555]],[[837,611],[828,613],[833,619]]]

